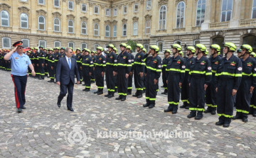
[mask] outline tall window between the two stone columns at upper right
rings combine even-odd
[[[221,5],[221,22],[230,21],[232,17],[233,0],[223,0]]]

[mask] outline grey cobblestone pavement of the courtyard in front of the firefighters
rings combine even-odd
[[[97,96],[95,84],[90,92],[75,85],[75,111],[70,112],[65,99],[58,108],[59,87],[47,80],[28,77],[26,110],[17,113],[10,72],[0,71],[0,157],[256,157],[252,115],[248,123],[234,120],[222,128],[214,125],[217,115],[194,120],[186,118],[188,110],[164,113],[163,89],[149,109],[142,107],[145,98],[128,96],[121,102]],[[172,137],[161,137],[166,130]],[[139,137],[144,131],[146,136]]]

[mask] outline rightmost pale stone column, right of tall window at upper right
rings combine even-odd
[[[240,6],[241,6],[241,0],[234,0],[233,5],[233,16],[230,21],[230,28],[238,28],[239,20],[240,20]]]

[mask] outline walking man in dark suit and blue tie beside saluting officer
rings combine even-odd
[[[67,107],[68,111],[74,111],[72,108],[73,101],[73,88],[75,84],[75,76],[77,77],[78,84],[80,84],[80,77],[78,72],[78,65],[75,58],[72,57],[73,51],[70,48],[65,48],[65,57],[58,60],[56,68],[56,84],[60,85],[60,95],[58,96],[57,105],[60,108],[60,102],[67,94]]]

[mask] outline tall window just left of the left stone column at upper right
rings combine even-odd
[[[196,11],[196,26],[201,26],[204,21],[206,12],[206,0],[198,0]]]

